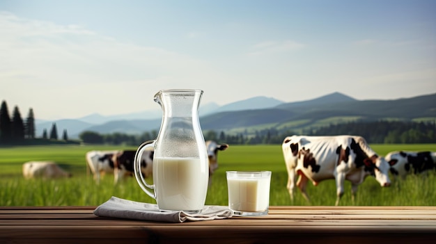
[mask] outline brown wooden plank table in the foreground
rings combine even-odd
[[[436,206],[271,206],[262,217],[170,224],[95,206],[0,207],[0,243],[435,243]]]

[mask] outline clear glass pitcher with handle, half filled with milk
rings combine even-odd
[[[203,90],[160,90],[155,95],[162,124],[157,138],[137,149],[134,176],[160,211],[199,213],[205,204],[209,161],[198,117],[202,95]],[[147,149],[154,149],[152,185],[141,174],[141,156]]]

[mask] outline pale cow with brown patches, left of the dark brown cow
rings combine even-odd
[[[95,181],[100,183],[101,174],[114,172],[112,157],[119,151],[90,151],[86,153],[86,162],[94,175]]]

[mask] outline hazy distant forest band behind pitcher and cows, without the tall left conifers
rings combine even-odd
[[[224,131],[203,131],[205,140],[215,140],[218,143],[231,145],[258,145],[283,143],[286,136],[363,136],[368,143],[436,143],[435,122],[348,122],[332,124],[318,129],[309,129],[297,133],[291,130],[263,129],[254,133],[226,134]],[[140,145],[146,140],[157,138],[157,131],[142,133],[141,135],[127,135],[125,133],[100,134],[94,131],[84,131],[79,135],[84,143],[110,145]]]

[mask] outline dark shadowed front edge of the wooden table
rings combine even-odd
[[[171,243],[184,240],[189,243],[280,243],[284,240],[304,241],[304,243],[368,243],[368,241],[381,241],[387,243],[400,243],[404,241],[425,241],[435,238],[435,231],[426,231],[419,228],[397,227],[396,229],[378,229],[367,227],[355,229],[353,227],[337,228],[313,227],[306,229],[290,229],[287,226],[257,228],[228,227],[198,227],[195,229],[185,225],[166,225],[159,227],[59,227],[54,226],[47,234],[47,229],[40,227],[15,227],[6,229],[7,236],[0,229],[0,236],[14,240],[15,243],[26,243],[33,240],[41,243],[57,242],[63,238],[72,239],[76,243],[93,241],[109,241],[109,243]],[[120,238],[123,236],[123,238]],[[127,239],[128,236],[128,239]],[[327,239],[326,239],[327,238]],[[101,239],[101,240],[100,240]],[[3,239],[4,240],[4,239]],[[363,242],[365,241],[365,242]],[[36,242],[37,243],[37,242]],[[63,242],[61,242],[63,243]]]

